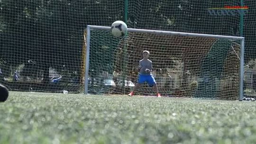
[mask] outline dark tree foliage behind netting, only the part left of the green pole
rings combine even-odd
[[[83,30],[88,24],[110,26],[120,19],[122,13],[117,9],[123,7],[112,9],[113,5],[95,0],[1,0],[0,59],[8,66],[25,64],[27,70],[32,67],[27,61],[32,60],[38,71],[48,73],[54,67],[79,77]],[[106,13],[115,17],[106,19]]]

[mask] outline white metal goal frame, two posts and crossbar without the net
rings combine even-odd
[[[89,85],[89,61],[90,61],[90,45],[91,45],[91,31],[92,30],[102,30],[107,31],[110,34],[110,27],[103,26],[91,26],[88,25],[86,29],[86,36],[84,36],[86,42],[86,60],[85,60],[85,73],[84,73],[84,94],[88,94],[88,85]],[[161,36],[192,36],[192,37],[203,37],[203,38],[217,38],[217,39],[229,39],[239,41],[240,51],[237,54],[239,58],[239,92],[238,92],[238,100],[243,99],[243,75],[244,75],[244,47],[245,47],[245,38],[238,36],[221,36],[221,35],[207,35],[207,34],[196,34],[196,33],[184,33],[184,32],[173,32],[173,31],[162,31],[162,30],[149,30],[149,29],[135,29],[128,28],[129,33],[146,33],[146,34],[154,34]],[[154,63],[153,63],[154,65]]]

